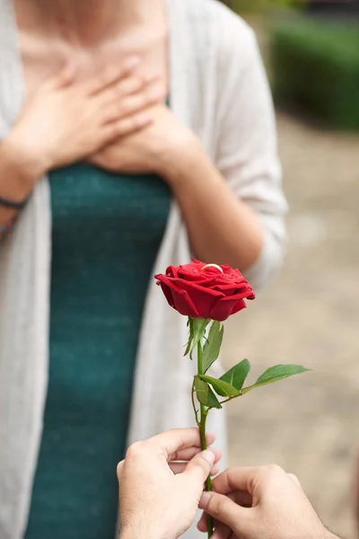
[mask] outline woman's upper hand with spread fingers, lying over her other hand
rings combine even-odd
[[[138,59],[76,82],[67,66],[28,101],[7,139],[38,177],[99,151],[151,123],[148,108],[162,101],[156,79],[136,75]]]

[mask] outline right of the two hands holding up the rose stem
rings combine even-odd
[[[200,508],[215,517],[214,539],[335,539],[297,478],[279,466],[232,468],[214,480]],[[198,523],[206,531],[205,515]]]

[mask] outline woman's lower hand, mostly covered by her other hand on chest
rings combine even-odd
[[[150,110],[153,122],[147,128],[105,146],[89,161],[112,172],[154,172],[164,176],[168,166],[188,148],[199,145],[197,137],[163,104]]]

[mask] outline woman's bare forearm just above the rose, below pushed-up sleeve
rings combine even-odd
[[[258,260],[264,243],[258,216],[233,195],[199,143],[169,159],[162,173],[180,204],[198,259],[240,270]]]

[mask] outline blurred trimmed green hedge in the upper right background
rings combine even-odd
[[[298,17],[271,34],[276,102],[359,129],[359,28]]]

